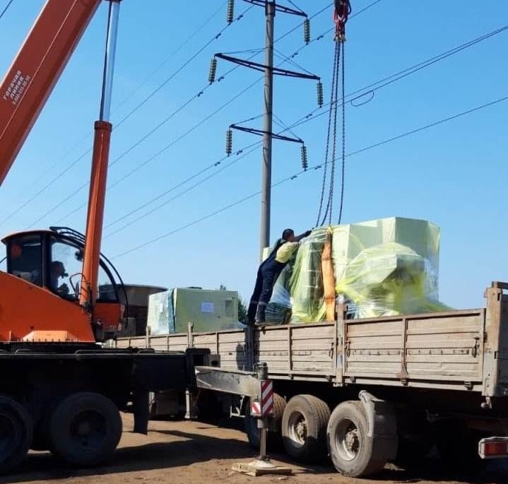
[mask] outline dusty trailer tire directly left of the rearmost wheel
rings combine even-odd
[[[288,456],[300,462],[315,462],[326,455],[326,425],[330,408],[313,395],[293,396],[285,406],[282,438]]]

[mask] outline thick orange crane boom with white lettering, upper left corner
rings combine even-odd
[[[47,0],[0,85],[0,185],[101,0]]]

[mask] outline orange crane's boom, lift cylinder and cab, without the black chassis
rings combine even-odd
[[[114,270],[100,260],[120,1],[110,1],[85,237],[71,230],[36,230],[4,238],[7,271],[0,272],[2,343],[95,343],[117,329],[121,321],[123,308],[112,277]],[[48,0],[8,69],[0,85],[0,184],[100,3],[101,0]],[[82,264],[78,268],[73,260],[76,273],[69,280],[71,288],[66,284],[59,290],[55,282],[65,273],[61,254],[70,252]],[[110,279],[107,290],[98,287],[101,266]]]

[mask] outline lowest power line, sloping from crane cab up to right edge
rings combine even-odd
[[[377,148],[377,147],[382,146],[382,145],[385,145],[385,144],[387,144],[387,143],[392,143],[392,142],[394,142],[394,141],[396,141],[396,140],[398,140],[398,139],[405,138],[406,136],[411,136],[411,135],[416,134],[416,133],[419,133],[419,132],[421,132],[421,131],[425,131],[426,129],[430,129],[430,128],[432,128],[432,127],[438,126],[439,124],[444,124],[444,123],[450,122],[450,121],[452,121],[452,120],[454,120],[454,119],[457,119],[457,118],[459,118],[459,117],[463,117],[463,116],[466,116],[467,114],[471,114],[471,113],[473,113],[473,112],[477,112],[477,111],[479,111],[479,110],[483,110],[483,109],[485,109],[486,107],[490,107],[490,106],[493,106],[493,105],[497,105],[498,103],[500,103],[500,102],[504,102],[504,101],[507,101],[507,100],[508,100],[508,96],[505,96],[505,97],[503,97],[503,98],[499,98],[499,99],[497,99],[497,100],[494,100],[494,101],[491,101],[491,102],[487,102],[487,103],[485,103],[485,104],[483,104],[483,105],[480,105],[480,106],[477,106],[477,107],[473,107],[473,108],[472,108],[472,109],[470,109],[470,110],[466,110],[466,111],[460,112],[460,113],[458,113],[458,114],[454,114],[454,115],[452,115],[452,116],[446,117],[446,118],[444,118],[444,119],[440,119],[440,120],[439,120],[439,121],[437,121],[437,122],[433,122],[433,123],[427,124],[427,125],[425,125],[425,126],[420,126],[420,128],[413,129],[413,130],[411,130],[411,131],[406,131],[406,132],[405,132],[405,133],[403,133],[403,134],[399,134],[399,135],[397,135],[397,136],[393,136],[393,137],[388,138],[388,139],[386,139],[386,140],[384,140],[384,141],[380,141],[379,143],[374,143],[374,144],[372,144],[372,145],[370,145],[370,146],[365,146],[364,148],[361,148],[360,150],[356,150],[356,151],[353,151],[353,152],[351,152],[351,153],[348,153],[348,155],[346,155],[346,156],[350,157],[350,156],[358,155],[358,154],[360,154],[360,153],[364,153],[364,152],[365,152],[365,151],[367,151],[367,150],[372,150],[373,148]],[[326,163],[331,163],[331,160],[330,160],[329,162],[326,162]],[[326,164],[326,163],[325,163],[325,164]],[[310,171],[313,171],[313,170],[319,170],[319,169],[321,169],[322,167],[324,167],[324,165],[325,165],[325,164],[321,164],[321,165],[314,165],[313,167],[310,167],[308,170],[300,170],[300,172],[295,173],[295,175],[291,175],[290,177],[286,177],[286,178],[284,178],[284,179],[281,179],[279,182],[276,182],[275,184],[272,184],[272,188],[277,187],[278,185],[283,184],[283,183],[285,183],[285,182],[289,182],[290,180],[293,180],[293,179],[297,178],[298,176],[303,175],[304,173],[307,173],[307,172],[310,172]],[[198,218],[198,219],[196,219],[196,220],[194,220],[194,221],[192,221],[192,222],[190,222],[190,223],[187,223],[187,224],[185,224],[185,225],[182,225],[181,227],[179,227],[179,228],[177,228],[177,229],[175,229],[175,230],[171,230],[170,232],[166,232],[166,233],[165,233],[165,234],[163,234],[163,235],[160,235],[160,236],[155,237],[155,238],[153,238],[153,239],[150,239],[150,240],[148,240],[148,241],[146,241],[146,242],[143,242],[143,244],[139,244],[139,245],[137,245],[136,247],[133,247],[133,248],[131,248],[131,249],[128,249],[128,250],[126,250],[125,252],[122,252],[122,253],[120,253],[120,254],[117,254],[117,255],[116,255],[116,256],[114,256],[112,259],[117,259],[117,258],[122,257],[122,256],[125,256],[125,255],[127,255],[127,254],[131,254],[131,252],[135,252],[135,251],[137,251],[137,250],[139,250],[139,249],[142,249],[143,247],[146,247],[147,245],[154,244],[155,242],[158,242],[158,241],[160,241],[160,240],[163,240],[163,239],[165,239],[166,237],[169,237],[170,235],[174,235],[174,234],[175,234],[175,233],[177,233],[177,232],[181,232],[182,230],[184,230],[184,229],[186,229],[186,228],[189,228],[189,227],[191,227],[191,226],[193,226],[193,225],[196,225],[196,224],[198,224],[198,223],[200,223],[200,222],[203,222],[203,220],[207,220],[208,218],[212,218],[213,216],[216,216],[216,215],[218,215],[218,214],[220,214],[220,213],[223,213],[224,211],[227,211],[227,210],[229,210],[230,208],[233,208],[233,207],[235,207],[235,206],[237,206],[237,205],[240,205],[241,203],[244,203],[245,201],[247,201],[247,200],[249,200],[249,199],[254,198],[254,196],[257,196],[257,195],[259,195],[260,193],[261,193],[261,191],[259,191],[259,190],[258,190],[258,191],[256,191],[256,192],[254,192],[253,194],[250,194],[249,196],[246,196],[246,197],[244,197],[244,198],[242,198],[242,199],[240,199],[240,200],[237,200],[237,201],[235,201],[235,202],[233,202],[233,203],[230,203],[229,205],[224,206],[223,208],[220,208],[220,209],[218,209],[217,211],[214,211],[214,212],[212,212],[212,213],[209,213],[209,214],[208,214],[208,215],[206,215],[206,216],[203,216],[203,217],[201,217],[201,218]]]

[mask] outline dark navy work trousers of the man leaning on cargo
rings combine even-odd
[[[270,302],[273,285],[275,285],[284,267],[285,264],[275,259],[268,259],[259,267],[254,293],[252,293],[249,310],[247,311],[248,324],[265,322],[266,305]]]

